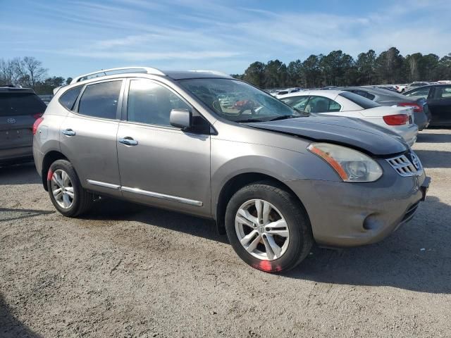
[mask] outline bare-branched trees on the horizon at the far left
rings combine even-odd
[[[0,59],[0,86],[15,85],[35,89],[37,94],[52,94],[53,89],[63,84],[69,84],[71,77],[47,76],[47,68],[42,62],[32,56]]]

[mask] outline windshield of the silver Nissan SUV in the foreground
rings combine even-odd
[[[208,78],[179,82],[214,113],[233,122],[264,122],[308,115],[246,82]]]

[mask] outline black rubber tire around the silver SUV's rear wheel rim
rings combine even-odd
[[[51,177],[53,173],[55,173],[58,169],[66,172],[70,178],[70,181],[72,182],[74,196],[73,203],[69,208],[63,208],[57,203],[51,189]],[[80,180],[78,179],[78,175],[77,173],[75,173],[73,165],[66,160],[58,160],[54,163],[51,163],[49,173],[47,174],[47,188],[49,190],[51,203],[54,204],[56,210],[58,210],[59,213],[67,217],[77,217],[78,215],[82,215],[83,213],[87,212],[94,203],[94,196],[90,192],[87,192],[85,189],[83,189],[82,185],[80,184]]]

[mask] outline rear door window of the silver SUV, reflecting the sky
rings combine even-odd
[[[78,113],[94,118],[116,119],[122,80],[89,84],[78,105]]]

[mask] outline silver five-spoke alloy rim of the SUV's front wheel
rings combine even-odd
[[[290,231],[282,213],[263,199],[252,199],[238,208],[235,231],[245,250],[262,261],[274,261],[287,251]]]

